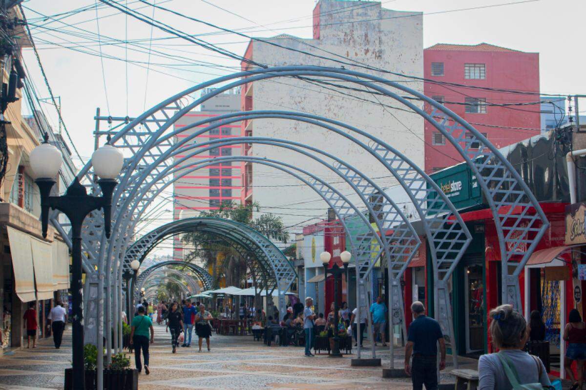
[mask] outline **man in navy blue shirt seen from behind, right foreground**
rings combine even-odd
[[[409,326],[405,346],[405,372],[411,375],[413,390],[437,390],[437,343],[440,343],[440,370],[445,368],[445,341],[440,323],[425,315],[425,306],[419,301],[411,305],[413,322]],[[411,354],[413,362],[410,364]]]

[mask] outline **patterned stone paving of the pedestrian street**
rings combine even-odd
[[[195,336],[195,333],[194,333]],[[139,375],[139,389],[410,389],[409,379],[383,379],[380,367],[350,367],[350,358],[304,357],[302,347],[267,347],[252,336],[212,335],[212,351],[192,347],[171,353],[171,336],[155,323],[151,345],[150,375]],[[0,358],[0,390],[63,389],[63,370],[71,364],[71,334],[64,335],[62,348],[52,339],[41,340],[35,349],[18,350]],[[389,352],[380,347],[377,356],[389,364]],[[397,351],[397,367],[402,366]],[[364,357],[370,356],[370,349]],[[134,367],[134,355],[131,359]],[[452,378],[447,378],[452,379]],[[453,379],[452,379],[453,381]]]

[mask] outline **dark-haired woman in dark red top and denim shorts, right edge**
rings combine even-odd
[[[574,382],[571,390],[581,389],[582,382],[584,382],[582,371],[584,360],[586,360],[586,324],[582,322],[580,312],[576,309],[571,309],[570,315],[568,315],[568,323],[564,329],[564,341],[568,341],[568,349],[565,351],[564,359],[565,374]],[[574,360],[578,366],[575,378],[571,368]]]

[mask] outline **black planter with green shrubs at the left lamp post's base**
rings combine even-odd
[[[86,390],[97,388],[96,363],[98,349],[94,344],[86,344],[83,348]],[[104,390],[138,390],[138,371],[130,367],[130,358],[125,353],[115,354],[112,363],[104,369]],[[65,369],[65,390],[73,388],[71,368]]]

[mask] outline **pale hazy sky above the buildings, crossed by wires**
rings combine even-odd
[[[132,8],[140,8],[139,12],[152,16],[152,7],[145,6],[137,0],[118,2],[128,3]],[[586,2],[537,0],[487,7],[507,2],[509,1],[382,1],[384,8],[422,11],[424,15],[427,14],[424,16],[424,47],[438,42],[487,42],[517,50],[538,52],[541,91],[586,94],[586,79],[583,74],[586,51],[581,46],[584,33],[580,28],[586,15]],[[239,61],[206,51],[185,40],[159,39],[168,37],[169,34],[156,28],[151,32],[151,27],[145,23],[130,16],[126,18],[117,10],[97,1],[101,42],[104,43],[101,50],[105,57],[118,58],[104,58],[102,67],[98,55],[100,45],[96,36],[96,9],[69,16],[62,19],[62,22],[43,20],[40,15],[56,15],[94,4],[94,1],[88,0],[29,0],[24,3],[26,16],[29,22],[35,25],[32,27],[33,37],[50,85],[54,94],[62,98],[64,121],[84,160],[87,160],[93,151],[93,116],[96,107],[99,106],[104,114],[110,113],[113,116],[137,116],[144,111],[145,106],[148,108],[197,82],[229,73],[230,68],[239,68]],[[299,37],[311,37],[311,14],[315,1],[156,0],[156,4],[222,27],[252,30],[248,33],[253,36],[267,37],[288,33]],[[470,9],[476,7],[484,8]],[[457,9],[466,10],[445,12]],[[154,16],[189,34],[216,31],[159,9],[155,11]],[[150,46],[149,60],[148,41],[151,34],[156,40]],[[239,55],[244,53],[247,45],[246,39],[235,34],[206,34],[200,37]],[[139,41],[128,45],[128,54],[124,44],[115,41],[125,39]],[[58,45],[72,48],[65,49]],[[90,51],[94,55],[80,51]],[[178,57],[162,58],[155,51]],[[133,62],[126,66],[125,58]],[[206,61],[210,65],[185,66],[181,65],[182,58]],[[39,95],[48,96],[32,51],[25,50],[25,60]],[[50,122],[56,124],[54,110],[49,105],[45,105],[45,109]],[[582,110],[586,110],[586,106]],[[170,218],[170,215],[163,218]]]

